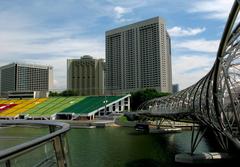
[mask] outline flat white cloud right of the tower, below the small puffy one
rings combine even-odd
[[[181,42],[177,41],[173,45],[175,48],[182,48],[190,51],[216,53],[219,42],[219,40],[194,39]]]

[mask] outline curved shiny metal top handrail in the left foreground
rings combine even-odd
[[[1,150],[0,161],[16,157],[19,153],[28,151],[29,149],[34,149],[36,146],[40,146],[41,144],[44,144],[47,141],[51,141],[56,137],[61,137],[61,135],[70,130],[69,124],[54,121],[0,120],[0,126],[3,125],[47,125],[50,128],[50,133],[41,137],[37,137],[25,143]],[[56,130],[56,127],[60,127],[60,129]],[[52,131],[51,128],[54,128],[54,131]]]

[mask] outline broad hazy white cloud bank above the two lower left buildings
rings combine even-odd
[[[11,17],[16,18],[13,15]],[[103,58],[105,55],[104,41],[101,37],[79,35],[76,37],[76,32],[71,31],[71,27],[32,29],[32,25],[31,20],[23,23],[11,22],[11,26],[0,25],[0,66],[12,62],[51,65],[54,73],[54,89],[62,90],[66,89],[67,59],[79,58],[85,54],[94,58]],[[80,31],[81,28],[77,33]]]

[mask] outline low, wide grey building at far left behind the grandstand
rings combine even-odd
[[[45,97],[53,85],[53,67],[12,63],[0,67],[1,96]],[[35,96],[34,96],[35,95]]]

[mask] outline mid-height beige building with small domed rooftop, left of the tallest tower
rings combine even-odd
[[[85,55],[67,60],[67,88],[78,95],[104,94],[104,60]]]

